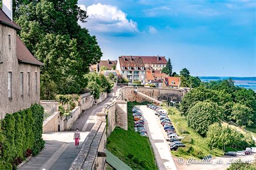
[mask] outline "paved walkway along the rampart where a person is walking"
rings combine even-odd
[[[80,115],[70,131],[44,133],[44,150],[36,157],[32,157],[19,169],[69,169],[80,150],[75,148],[75,141],[73,140],[75,130],[78,128],[81,131],[81,145],[97,121],[96,113],[101,112],[104,105],[113,100],[115,100],[115,96],[111,93],[102,103],[85,110],[85,113]]]

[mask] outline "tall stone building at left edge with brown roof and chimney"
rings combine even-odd
[[[12,1],[0,9],[0,118],[40,101],[40,66],[16,34],[21,28],[12,20]]]

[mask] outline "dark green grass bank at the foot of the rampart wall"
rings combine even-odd
[[[132,107],[146,103],[128,102],[128,130],[116,127],[107,138],[107,150],[132,169],[157,169],[149,138],[134,131]]]

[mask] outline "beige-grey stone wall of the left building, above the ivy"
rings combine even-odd
[[[11,49],[9,36],[11,35]],[[6,113],[12,114],[30,108],[31,104],[39,103],[40,67],[19,63],[16,53],[16,30],[0,24],[0,119]],[[12,98],[8,97],[8,72],[12,72]],[[21,96],[20,73],[24,74],[24,90]],[[28,94],[28,72],[30,72],[30,95]],[[37,72],[37,92],[35,90],[35,72]]]

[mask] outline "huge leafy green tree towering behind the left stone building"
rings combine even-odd
[[[22,1],[16,4],[15,20],[22,30],[19,37],[42,62],[42,89],[53,93],[79,93],[87,86],[89,66],[102,56],[95,36],[78,25],[86,22],[86,11],[75,1]],[[53,88],[54,87],[54,88]],[[43,91],[44,92],[44,91]]]

